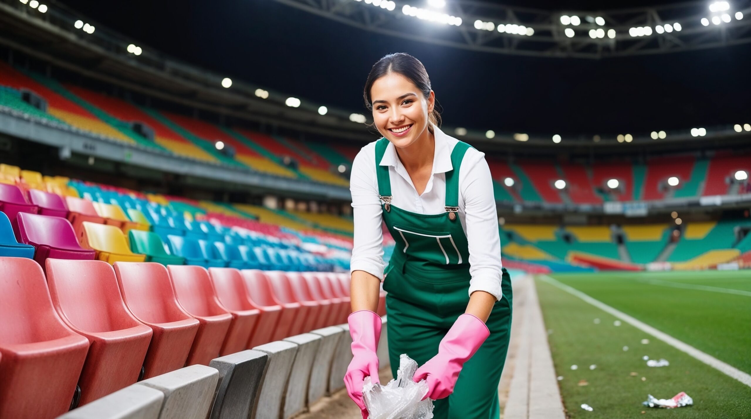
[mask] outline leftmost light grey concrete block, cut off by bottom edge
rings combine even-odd
[[[133,384],[57,419],[158,419],[163,402],[161,391]]]

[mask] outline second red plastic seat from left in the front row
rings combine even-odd
[[[47,259],[47,283],[62,321],[91,343],[78,380],[79,404],[134,384],[152,330],[122,302],[112,266],[103,261]]]

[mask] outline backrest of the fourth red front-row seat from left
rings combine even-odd
[[[216,297],[206,268],[190,265],[170,265],[172,286],[180,305],[192,315],[222,315],[227,311],[222,308]]]

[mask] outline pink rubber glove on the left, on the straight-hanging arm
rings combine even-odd
[[[381,339],[381,316],[370,310],[359,310],[347,318],[349,334],[352,336],[352,362],[344,375],[347,393],[357,406],[363,419],[367,419],[368,410],[363,401],[363,379],[370,376],[370,381],[381,383],[378,377],[378,341]]]

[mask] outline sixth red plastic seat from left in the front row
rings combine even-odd
[[[294,322],[294,309],[287,309],[285,305],[279,303],[279,300],[276,300],[276,297],[274,297],[273,289],[271,288],[271,283],[264,274],[264,271],[257,269],[246,269],[243,270],[242,273],[243,280],[246,287],[248,288],[250,300],[256,307],[258,307],[258,309],[261,309],[261,311],[263,312],[263,314],[261,315],[261,323],[265,322],[265,316],[267,315],[267,312],[273,313],[274,316],[273,321],[268,322],[268,324],[273,324],[273,330],[270,330],[270,335],[264,336],[264,338],[267,337],[268,340],[267,342],[263,343],[282,340],[287,336],[291,336],[289,334],[289,330],[292,323]],[[249,347],[253,348],[256,346],[253,345],[253,343],[264,340],[261,339],[258,334],[259,333],[256,333],[256,336],[251,339],[252,342]],[[262,343],[258,345],[262,345]]]

